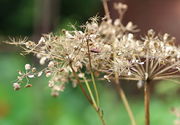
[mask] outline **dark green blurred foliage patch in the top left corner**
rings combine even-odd
[[[0,34],[29,35],[33,25],[31,0],[0,0]]]

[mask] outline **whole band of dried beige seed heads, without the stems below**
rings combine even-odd
[[[127,6],[119,3],[115,8],[121,16]],[[180,49],[175,46],[174,38],[168,34],[156,36],[153,30],[149,30],[144,38],[137,40],[134,37],[136,31],[132,22],[123,25],[121,18],[113,21],[94,17],[82,26],[81,31],[74,28],[72,31],[63,30],[62,35],[46,34],[38,43],[13,41],[11,44],[21,46],[26,53],[35,54],[41,65],[47,64],[40,72],[34,69],[19,72],[18,83],[23,77],[31,78],[44,72],[47,77],[51,76],[49,87],[62,90],[69,80],[76,86],[72,70],[81,73],[85,68],[89,72],[90,66],[94,71],[104,73],[106,79],[110,79],[114,72],[118,72],[120,78],[130,80],[178,77]],[[30,69],[26,68],[26,71]]]

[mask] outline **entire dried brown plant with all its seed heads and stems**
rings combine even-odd
[[[136,25],[132,22],[122,24],[127,5],[114,4],[119,13],[119,18],[115,20],[110,17],[106,1],[103,5],[106,16],[91,18],[81,26],[81,31],[74,28],[72,31],[63,30],[61,35],[45,34],[38,42],[27,39],[8,42],[20,46],[25,54],[34,54],[41,65],[46,65],[43,70],[36,71],[35,67],[26,64],[25,72],[19,71],[13,87],[20,89],[24,79],[27,81],[24,86],[31,87],[28,79],[44,73],[46,77],[51,77],[48,86],[52,95],[58,96],[60,91],[64,91],[66,83],[71,82],[73,87],[78,85],[81,88],[105,125],[94,75],[98,72],[103,74],[103,78],[100,75],[96,79],[115,81],[131,124],[136,125],[119,82],[120,79],[136,80],[138,85],[144,86],[145,125],[150,125],[150,84],[153,80],[171,80],[180,76],[180,47],[175,46],[175,39],[167,33],[156,35],[153,30],[149,30],[142,39],[136,39]],[[85,83],[87,91],[82,83]]]

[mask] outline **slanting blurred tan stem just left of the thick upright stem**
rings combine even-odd
[[[125,109],[126,109],[128,115],[129,115],[129,118],[130,118],[130,120],[131,120],[131,124],[132,124],[132,125],[136,125],[136,121],[135,121],[133,112],[132,112],[132,110],[131,110],[131,108],[130,108],[130,105],[129,105],[129,103],[128,103],[128,100],[127,100],[127,98],[126,98],[126,95],[125,95],[123,89],[122,89],[121,86],[120,86],[119,76],[118,76],[117,73],[115,73],[115,86],[116,86],[116,89],[117,89],[117,91],[118,91],[119,96],[121,97],[121,99],[122,99],[122,101],[123,101],[123,104],[124,104],[124,106],[125,106]]]

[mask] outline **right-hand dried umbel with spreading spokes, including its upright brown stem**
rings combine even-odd
[[[180,77],[180,49],[175,46],[174,38],[168,34],[156,36],[153,30],[149,30],[142,40],[132,40],[128,43],[124,46],[126,49],[120,50],[121,56],[116,56],[118,63],[115,63],[114,70],[119,69],[119,76],[122,79],[138,80],[143,83],[146,125],[149,125],[150,83],[153,80]],[[122,68],[123,65],[120,64],[124,61],[126,65]]]

